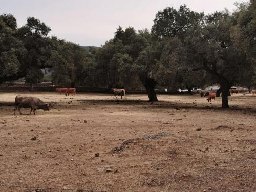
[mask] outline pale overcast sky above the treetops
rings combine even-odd
[[[242,0],[0,0],[0,14],[13,14],[18,27],[33,16],[50,26],[55,35],[81,46],[100,46],[113,38],[116,28],[133,26],[151,29],[159,10],[186,4],[206,14],[227,8]]]

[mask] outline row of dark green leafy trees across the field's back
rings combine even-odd
[[[112,39],[89,50],[49,37],[50,30],[34,17],[17,28],[13,15],[0,16],[0,83],[38,83],[47,69],[54,83],[144,88],[150,101],[158,101],[156,87],[190,91],[219,83],[222,107],[228,107],[231,86],[250,90],[256,83],[255,0],[208,15],[186,5],[167,7],[151,30],[119,26]]]

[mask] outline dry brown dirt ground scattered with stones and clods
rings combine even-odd
[[[0,93],[0,191],[256,191],[256,96],[158,98]]]

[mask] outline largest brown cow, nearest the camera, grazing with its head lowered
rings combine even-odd
[[[49,103],[45,103],[38,99],[37,97],[23,97],[17,95],[15,97],[15,106],[14,106],[14,115],[18,108],[19,114],[22,115],[22,112],[20,111],[21,108],[30,108],[30,115],[33,110],[35,115],[35,110],[42,109],[44,111],[49,111]]]

